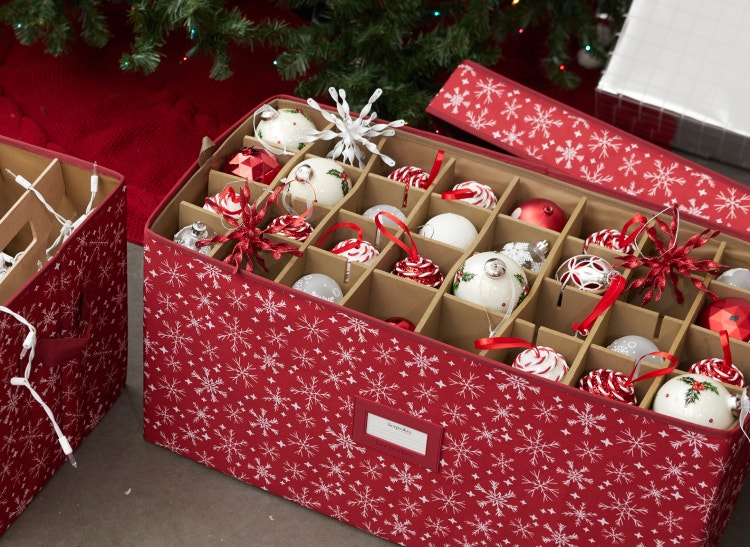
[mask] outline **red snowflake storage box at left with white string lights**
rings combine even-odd
[[[121,175],[97,169],[84,217],[92,164],[0,137],[0,165],[0,251],[14,259],[0,276],[2,534],[66,460],[58,437],[75,449],[125,386],[127,271]],[[80,220],[62,243],[38,196]]]

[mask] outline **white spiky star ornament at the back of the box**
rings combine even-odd
[[[341,157],[342,161],[350,165],[354,165],[354,161],[356,160],[359,167],[363,168],[365,162],[362,147],[364,147],[370,153],[380,156],[386,165],[393,167],[396,162],[380,152],[377,146],[369,140],[373,137],[390,137],[396,133],[394,131],[395,127],[403,127],[406,123],[404,120],[396,120],[390,123],[371,125],[378,115],[376,112],[373,112],[370,116],[368,114],[372,109],[373,103],[383,94],[383,90],[375,90],[370,100],[367,101],[367,104],[356,118],[353,118],[349,111],[349,103],[346,102],[346,92],[343,89],[336,91],[336,88],[329,87],[328,92],[336,103],[338,117],[330,111],[323,110],[314,99],[307,99],[307,104],[319,111],[326,121],[334,124],[336,130],[324,129],[322,131],[310,132],[310,136],[305,137],[305,142],[340,139],[326,157],[334,160]]]

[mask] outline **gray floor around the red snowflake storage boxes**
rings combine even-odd
[[[750,173],[710,164],[750,185]],[[125,393],[0,537],[13,546],[375,546],[388,543],[147,443],[142,438],[142,249],[128,245]],[[722,547],[747,545],[750,480]]]

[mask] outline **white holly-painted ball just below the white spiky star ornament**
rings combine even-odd
[[[327,158],[309,158],[285,181],[287,197],[332,207],[349,193],[351,184],[341,165]]]

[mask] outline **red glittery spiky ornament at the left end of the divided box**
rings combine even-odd
[[[235,220],[231,217],[224,216],[224,220],[234,228],[231,232],[226,235],[215,235],[212,238],[202,239],[196,243],[199,247],[211,245],[212,243],[224,243],[230,240],[236,240],[237,243],[232,249],[229,256],[224,259],[227,264],[234,265],[234,273],[242,264],[243,256],[247,257],[245,263],[245,271],[253,271],[253,260],[264,270],[268,271],[264,260],[259,256],[261,251],[267,251],[271,253],[271,256],[275,260],[281,258],[284,253],[290,253],[294,256],[302,256],[302,251],[291,243],[274,243],[266,239],[265,235],[272,233],[273,231],[269,228],[259,228],[259,224],[263,221],[266,216],[268,208],[276,203],[279,198],[279,194],[284,189],[284,185],[279,186],[274,190],[268,199],[266,200],[265,206],[258,208],[256,202],[250,199],[250,185],[245,180],[245,186],[240,191],[240,208],[242,213],[239,220]]]

